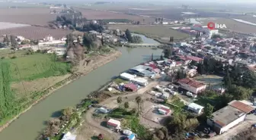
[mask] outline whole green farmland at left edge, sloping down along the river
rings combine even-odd
[[[40,90],[30,91],[29,89],[33,88],[30,87],[31,85],[21,84],[20,88],[15,88],[18,87],[18,83],[36,82],[38,79],[57,76],[56,79],[51,79],[53,81],[48,80],[54,84],[53,82],[56,83],[62,79],[58,76],[66,75],[69,69],[69,64],[56,62],[52,54],[30,54],[21,58],[2,59],[0,91],[3,94],[0,95],[0,126],[43,95]],[[39,82],[42,81],[39,80]]]

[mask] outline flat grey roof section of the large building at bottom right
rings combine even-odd
[[[212,120],[215,123],[218,123],[219,126],[226,126],[229,123],[232,123],[232,121],[238,119],[239,117],[242,117],[242,115],[244,114],[245,113],[241,110],[238,110],[235,107],[228,105],[214,112]]]

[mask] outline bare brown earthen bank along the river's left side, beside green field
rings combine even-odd
[[[109,63],[110,61],[114,61],[121,54],[122,53],[120,51],[114,51],[108,55],[97,55],[97,56],[90,58],[89,60],[85,59],[82,62],[84,65],[79,66],[78,72],[72,73],[71,76],[67,77],[66,79],[63,79],[60,82],[57,82],[54,86],[51,86],[48,89],[44,90],[43,96],[41,96],[37,101],[34,101],[33,104],[31,104],[29,107],[27,107],[27,109],[23,110],[20,114],[15,116],[13,119],[11,119],[7,123],[5,123],[5,125],[1,126],[0,132],[2,132],[3,129],[8,127],[12,122],[14,122],[14,120],[17,120],[18,117],[21,116],[21,114],[24,114],[25,112],[27,112],[27,110],[30,110],[31,107],[33,107],[35,104],[39,103],[40,101],[43,101],[43,99],[45,99],[46,97],[51,95],[56,90],[62,88],[63,86],[68,85],[69,83],[75,81],[76,79],[80,78],[81,76],[85,76],[87,73],[91,72],[91,70],[95,70],[98,67],[101,67],[102,65]],[[84,63],[85,61],[90,61],[90,63],[87,63],[85,65],[85,63]]]

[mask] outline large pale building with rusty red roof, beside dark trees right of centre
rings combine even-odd
[[[203,92],[206,89],[205,84],[201,82],[197,82],[194,79],[189,79],[189,78],[179,79],[178,83],[180,84],[180,87],[182,89],[186,89],[187,91],[193,92],[194,94]]]

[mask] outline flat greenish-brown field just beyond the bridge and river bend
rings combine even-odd
[[[141,33],[146,36],[160,39],[162,42],[168,42],[170,36],[174,36],[175,39],[186,39],[189,37],[185,33],[180,33],[176,30],[170,29],[171,26],[142,26],[142,25],[114,25],[109,26],[109,29],[119,29],[119,30],[126,30],[129,29],[133,33]]]

